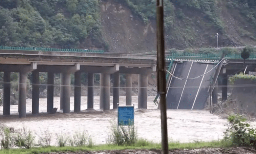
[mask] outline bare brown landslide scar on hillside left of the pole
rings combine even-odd
[[[102,35],[110,52],[137,53],[155,49],[155,24],[143,24],[131,10],[113,1],[101,1]]]

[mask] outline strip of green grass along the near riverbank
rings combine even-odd
[[[144,146],[143,146],[144,145]],[[202,147],[230,147],[231,144],[224,141],[211,141],[211,142],[194,142],[194,143],[179,143],[170,142],[169,149],[192,149],[192,148],[202,148]],[[118,146],[113,144],[102,144],[95,145],[93,147],[81,146],[65,146],[65,147],[37,147],[30,149],[9,149],[0,150],[0,154],[40,154],[49,152],[60,152],[60,151],[90,151],[90,150],[125,150],[125,149],[161,149],[161,144],[156,144],[152,142],[139,142],[134,146]]]

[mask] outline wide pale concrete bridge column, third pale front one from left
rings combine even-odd
[[[110,109],[110,74],[107,73],[100,74],[99,108]]]

